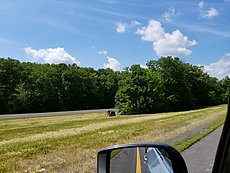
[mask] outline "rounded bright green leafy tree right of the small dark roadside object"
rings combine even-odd
[[[121,114],[157,112],[162,109],[160,77],[140,65],[132,65],[122,72],[115,96]]]

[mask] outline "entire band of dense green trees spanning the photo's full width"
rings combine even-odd
[[[0,114],[112,108],[121,114],[188,110],[227,102],[230,78],[162,57],[121,72],[76,64],[0,59]]]

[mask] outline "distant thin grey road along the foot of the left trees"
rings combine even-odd
[[[65,111],[65,112],[6,114],[6,115],[0,115],[0,119],[15,119],[15,118],[27,118],[27,117],[45,117],[45,116],[57,116],[57,115],[71,115],[71,114],[82,114],[82,113],[93,113],[93,112],[106,112],[108,110],[117,111],[117,109],[95,109],[95,110],[79,110],[79,111]]]

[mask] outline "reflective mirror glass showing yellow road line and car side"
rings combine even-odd
[[[111,173],[173,173],[168,153],[159,148],[133,147],[110,153]]]

